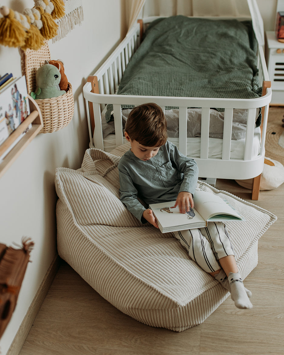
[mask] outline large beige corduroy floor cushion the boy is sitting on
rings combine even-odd
[[[127,149],[129,144],[111,153],[87,149],[81,169],[56,170],[58,252],[122,312],[180,332],[202,323],[228,293],[171,233],[142,225],[120,202],[117,165]],[[227,223],[245,278],[257,265],[258,239],[276,217],[206,183],[198,188],[225,197],[247,219]]]

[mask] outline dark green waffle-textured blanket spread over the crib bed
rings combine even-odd
[[[256,98],[261,93],[256,53],[251,21],[159,18],[127,65],[118,94]],[[108,105],[107,122],[112,110]]]

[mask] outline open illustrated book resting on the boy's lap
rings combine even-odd
[[[195,191],[194,208],[180,213],[175,201],[150,204],[162,233],[206,227],[208,222],[245,221],[228,201],[211,192]]]

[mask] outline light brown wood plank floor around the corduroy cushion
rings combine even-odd
[[[250,200],[234,180],[216,187]],[[261,237],[258,265],[245,279],[252,310],[230,297],[199,326],[176,333],[124,315],[62,262],[20,355],[284,354],[284,184],[251,201],[278,217]]]

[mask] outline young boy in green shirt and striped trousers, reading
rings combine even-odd
[[[180,213],[194,206],[198,179],[194,159],[185,157],[167,141],[166,119],[154,104],[135,107],[125,125],[125,137],[131,149],[120,159],[120,200],[142,223],[156,228],[153,212],[139,201],[150,203],[174,201]],[[231,293],[238,308],[252,308],[251,292],[244,287],[237,269],[234,251],[226,226],[209,222],[206,228],[174,232],[189,256],[204,271],[217,279]]]

